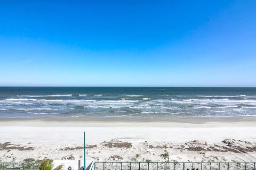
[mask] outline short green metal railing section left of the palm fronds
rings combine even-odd
[[[40,163],[1,163],[0,169],[34,169],[38,170],[40,167]]]

